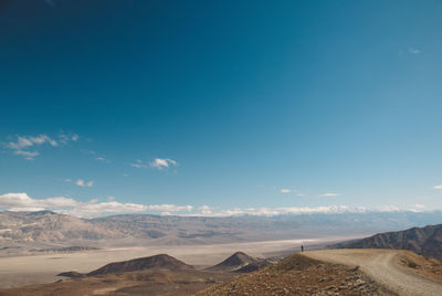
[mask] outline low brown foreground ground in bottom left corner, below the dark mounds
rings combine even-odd
[[[63,278],[55,283],[0,288],[1,296],[191,296],[214,284],[234,277],[234,273],[211,273],[197,269],[145,269],[131,273]]]

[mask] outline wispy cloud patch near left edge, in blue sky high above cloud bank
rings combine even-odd
[[[14,155],[22,156],[27,160],[34,160],[40,152],[36,150],[42,145],[49,145],[51,147],[64,146],[69,141],[78,140],[78,135],[65,135],[59,134],[55,138],[50,137],[45,134],[38,136],[15,136],[15,140],[4,142],[3,146],[12,151]]]

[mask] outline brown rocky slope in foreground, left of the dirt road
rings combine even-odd
[[[197,295],[386,295],[385,293],[358,268],[295,254],[257,272],[213,285]]]

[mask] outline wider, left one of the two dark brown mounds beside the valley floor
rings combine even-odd
[[[156,268],[170,271],[190,271],[193,269],[193,266],[188,265],[167,254],[159,254],[150,257],[109,263],[96,271],[88,273],[87,276],[138,272]]]

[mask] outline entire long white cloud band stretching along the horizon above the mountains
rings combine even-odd
[[[407,211],[421,212],[423,204],[414,204]],[[137,204],[122,203],[114,197],[108,197],[106,201],[99,202],[97,199],[90,201],[77,201],[72,198],[54,197],[48,199],[32,199],[27,193],[7,193],[0,195],[0,209],[10,211],[42,211],[52,210],[59,213],[66,213],[76,216],[97,216],[105,213],[130,213],[155,211],[162,215],[185,215],[185,216],[236,216],[256,215],[274,216],[281,214],[341,214],[341,213],[369,213],[369,212],[398,212],[403,211],[394,205],[383,205],[373,209],[365,207],[348,205],[324,205],[324,207],[281,207],[281,208],[233,208],[228,210],[215,210],[209,205],[201,205],[198,212],[192,212],[192,205],[176,204]],[[187,212],[187,213],[186,213]]]

